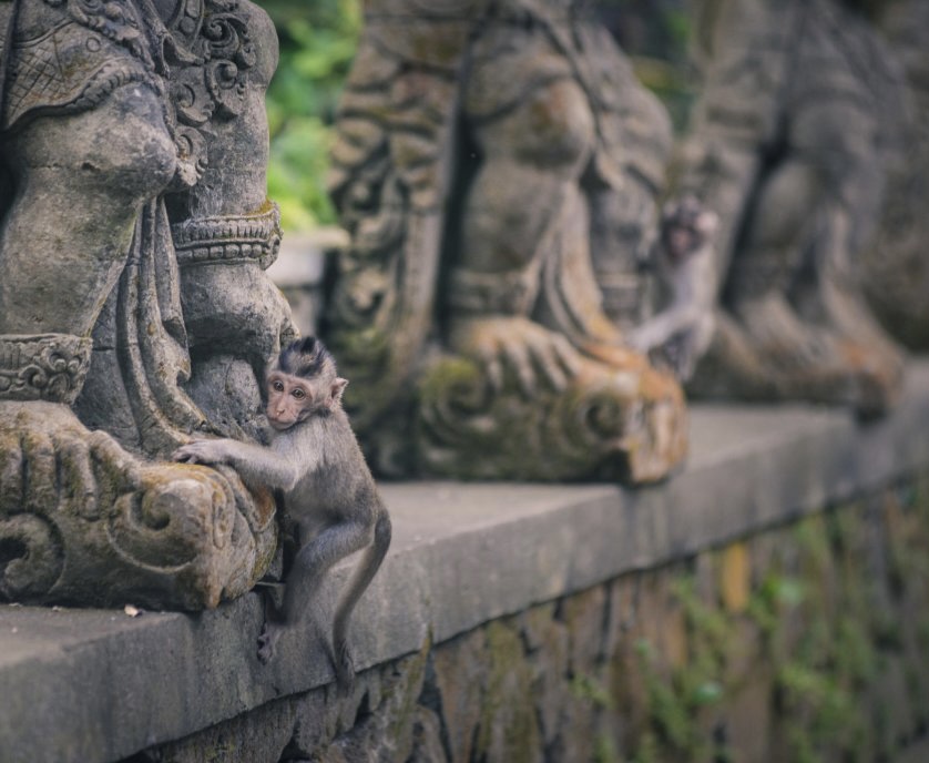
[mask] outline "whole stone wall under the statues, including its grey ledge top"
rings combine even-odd
[[[866,424],[695,405],[649,489],[385,484],[349,698],[319,628],[258,662],[254,593],[0,607],[0,763],[928,760],[898,755],[929,728],[928,425],[915,362]]]

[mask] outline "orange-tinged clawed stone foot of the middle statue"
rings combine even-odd
[[[510,375],[527,396],[534,395],[540,379],[563,390],[581,367],[578,350],[564,336],[521,316],[459,318],[449,340],[455,352],[483,366],[494,389]]]

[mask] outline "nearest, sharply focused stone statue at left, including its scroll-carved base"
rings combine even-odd
[[[213,607],[267,570],[274,501],[164,460],[258,436],[294,333],[274,29],[247,0],[7,0],[0,29],[0,600]]]

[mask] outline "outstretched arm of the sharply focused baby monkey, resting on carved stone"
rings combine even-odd
[[[288,491],[318,464],[317,457],[304,450],[278,450],[229,439],[194,440],[177,448],[172,458],[187,464],[228,464],[247,485]]]

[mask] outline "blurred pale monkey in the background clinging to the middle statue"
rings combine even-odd
[[[714,330],[716,303],[715,212],[691,195],[665,205],[655,271],[667,306],[630,332],[629,342],[647,353],[660,349],[676,376],[691,377]]]

